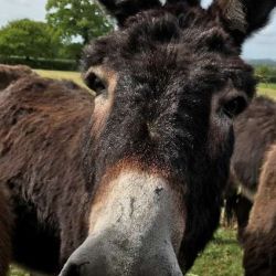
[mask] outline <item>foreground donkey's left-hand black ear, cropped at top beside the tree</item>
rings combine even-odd
[[[129,17],[140,11],[161,7],[159,0],[98,0],[98,2],[117,19],[120,26],[125,25]]]

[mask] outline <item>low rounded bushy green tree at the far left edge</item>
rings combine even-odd
[[[2,56],[55,57],[60,43],[59,34],[43,22],[22,19],[0,29]]]

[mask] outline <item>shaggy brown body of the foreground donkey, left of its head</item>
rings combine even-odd
[[[83,240],[77,229],[86,227],[79,144],[93,97],[73,83],[29,76],[0,93],[0,184],[15,214],[13,259],[56,272],[60,247],[63,263]]]

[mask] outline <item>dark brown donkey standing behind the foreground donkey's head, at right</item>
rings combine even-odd
[[[235,192],[226,195],[226,210],[237,217],[237,236],[242,242],[266,152],[276,142],[276,103],[264,96],[253,99],[250,107],[235,119],[234,134],[229,187]],[[241,189],[240,194],[236,193],[237,189]]]

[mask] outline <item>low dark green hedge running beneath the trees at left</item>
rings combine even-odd
[[[45,59],[25,59],[21,56],[0,56],[2,64],[24,64],[32,68],[57,70],[57,71],[76,71],[78,64],[73,60],[45,60]]]

